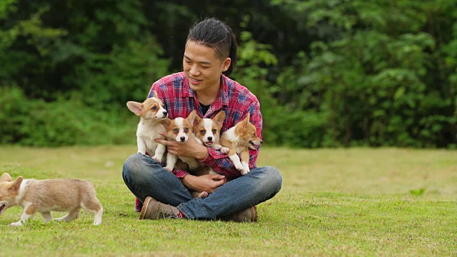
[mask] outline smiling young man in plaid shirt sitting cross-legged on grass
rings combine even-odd
[[[213,118],[219,111],[225,111],[223,133],[250,114],[250,121],[261,137],[258,99],[227,77],[236,64],[236,49],[233,31],[223,22],[205,19],[195,24],[186,40],[184,71],[156,81],[149,97],[157,92],[170,119],[185,118],[193,110],[202,118]],[[130,156],[122,175],[126,186],[143,203],[140,218],[256,221],[256,205],[281,189],[282,178],[276,168],[256,167],[258,149],[249,150],[251,171],[241,176],[228,156],[200,145],[192,137],[186,143],[156,141],[166,145],[170,153],[194,157],[218,174],[193,176],[177,169],[170,173],[149,156]],[[210,194],[206,198],[192,198],[189,190]]]

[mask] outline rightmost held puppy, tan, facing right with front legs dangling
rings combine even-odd
[[[221,146],[229,148],[229,158],[241,175],[249,173],[249,148],[256,150],[263,141],[257,136],[256,126],[249,122],[249,114],[221,136]],[[240,158],[236,155],[239,153]]]

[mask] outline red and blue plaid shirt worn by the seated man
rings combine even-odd
[[[219,111],[225,111],[226,119],[221,129],[222,133],[224,133],[249,113],[251,115],[250,121],[256,126],[258,137],[261,138],[262,115],[256,96],[248,91],[246,87],[224,75],[222,75],[222,86],[216,101],[209,106],[205,115],[203,115],[199,100],[196,99],[194,90],[190,88],[184,72],[171,74],[156,81],[152,84],[148,97],[154,96],[154,91],[164,101],[164,106],[166,111],[169,112],[170,119],[187,117],[194,110],[197,111],[197,115],[201,118],[213,119]],[[249,149],[249,168],[256,168],[258,150]],[[226,176],[226,178],[233,179],[241,176],[241,173],[236,170],[226,154],[213,148],[208,148],[208,153],[208,156],[201,161],[202,163],[211,166],[214,171]],[[187,171],[176,169],[173,172],[179,178],[183,178],[188,174]]]

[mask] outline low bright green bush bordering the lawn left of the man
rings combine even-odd
[[[1,89],[1,143],[24,146],[122,144],[136,141],[137,116],[124,106],[100,111],[77,101],[26,99],[16,87]]]

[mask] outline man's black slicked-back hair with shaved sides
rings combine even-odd
[[[204,44],[216,51],[219,57],[224,60],[227,57],[231,59],[229,69],[222,74],[229,76],[236,65],[236,37],[230,26],[224,24],[215,18],[207,18],[203,21],[196,22],[189,30],[186,44],[189,41],[195,41]]]

